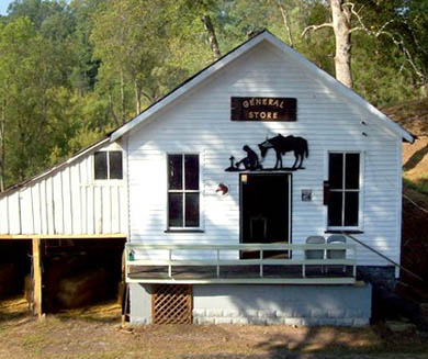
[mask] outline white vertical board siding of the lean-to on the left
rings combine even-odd
[[[0,235],[126,234],[126,179],[93,180],[94,150],[121,148],[99,146],[0,197]]]

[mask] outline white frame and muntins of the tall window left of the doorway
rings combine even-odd
[[[198,173],[198,190],[187,190],[185,189],[185,162],[184,162],[184,156],[198,156],[198,167],[199,167],[199,173]],[[181,156],[181,176],[182,176],[182,189],[181,190],[171,190],[169,189],[169,172],[168,172],[168,167],[169,167],[169,156]],[[203,216],[202,216],[202,162],[201,162],[201,154],[195,153],[195,152],[171,152],[166,154],[166,173],[167,173],[167,198],[166,198],[166,207],[167,207],[167,213],[166,213],[166,224],[167,224],[167,229],[165,231],[166,233],[168,232],[178,232],[178,233],[185,233],[185,232],[203,232]],[[182,213],[183,213],[183,226],[170,226],[169,225],[169,193],[182,193]],[[199,226],[185,226],[185,193],[198,193],[199,194]]]

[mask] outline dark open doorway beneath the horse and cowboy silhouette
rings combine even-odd
[[[290,242],[290,184],[288,173],[240,175],[241,243]],[[254,258],[257,254],[243,254]],[[271,257],[278,253],[267,253]]]

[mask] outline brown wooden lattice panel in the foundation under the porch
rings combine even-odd
[[[154,324],[192,323],[192,287],[154,285],[151,314]]]

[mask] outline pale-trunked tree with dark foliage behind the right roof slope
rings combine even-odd
[[[319,3],[327,5],[324,1]],[[415,85],[426,88],[428,83],[428,52],[426,26],[428,25],[428,1],[426,0],[330,0],[330,19],[320,24],[311,24],[303,31],[330,27],[336,42],[335,71],[336,78],[347,87],[353,86],[351,71],[351,35],[362,32],[379,41],[379,52],[387,52],[391,58],[396,51],[401,54],[402,64],[398,71],[409,69]],[[365,54],[370,57],[370,54]],[[395,61],[395,60],[394,60]],[[398,60],[399,61],[399,60]],[[387,67],[393,66],[386,64]],[[427,91],[428,92],[428,91]]]

